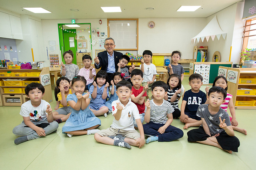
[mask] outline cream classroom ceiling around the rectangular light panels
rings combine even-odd
[[[0,0],[1,8],[39,19],[188,18],[208,17],[241,0]],[[121,13],[100,7],[120,6]],[[176,12],[180,6],[201,6],[195,12]],[[35,14],[22,7],[42,7],[52,13]],[[148,7],[154,10],[146,10]],[[78,9],[73,12],[70,9]]]

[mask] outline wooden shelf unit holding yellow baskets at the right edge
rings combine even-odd
[[[256,68],[230,68],[230,67],[222,67],[220,68],[227,69],[228,71],[235,71],[238,72],[237,74],[237,81],[236,83],[229,82],[228,81],[228,90],[227,92],[231,95],[233,95],[233,103],[235,105],[236,103],[236,97],[256,97],[256,95],[237,95],[237,89],[238,87],[256,87],[256,84],[239,84],[239,79],[241,76],[256,76]],[[227,75],[226,75],[227,77]],[[235,109],[256,109],[256,106],[235,106]]]

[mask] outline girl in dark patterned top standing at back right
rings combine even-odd
[[[180,51],[173,51],[171,53],[171,64],[167,67],[169,75],[171,74],[177,74],[181,78],[181,82],[183,81],[184,78],[184,68],[182,65],[178,64],[178,61],[181,58],[181,52]],[[181,84],[181,96],[184,93],[184,87]]]

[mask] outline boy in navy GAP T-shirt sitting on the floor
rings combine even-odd
[[[203,77],[200,74],[191,74],[188,78],[191,89],[184,93],[181,103],[180,121],[185,123],[183,129],[192,126],[200,126],[202,120],[196,116],[197,108],[206,102],[206,94],[200,90],[202,86]]]

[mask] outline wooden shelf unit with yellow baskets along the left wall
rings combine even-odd
[[[50,74],[49,72],[49,67],[43,67],[42,69],[1,69],[1,72],[7,72],[7,71],[11,71],[11,72],[41,72],[39,76],[36,77],[0,77],[0,80],[3,79],[25,79],[28,78],[28,81],[41,81],[41,75],[45,75],[45,74]],[[25,88],[26,86],[0,86],[0,106],[2,106],[1,104],[3,104],[4,106],[21,106],[22,103],[25,103],[26,101],[24,100],[25,98],[27,98],[25,93],[4,93],[4,89],[3,88]],[[48,103],[51,103],[53,101],[52,98],[52,88],[51,85],[46,85],[44,86],[45,88],[45,95],[43,96],[43,100],[47,101]],[[8,96],[8,98],[19,98],[20,99],[20,103],[15,103],[15,102],[6,102],[5,98]],[[27,99],[26,99],[27,100]]]

